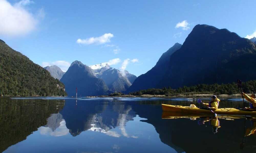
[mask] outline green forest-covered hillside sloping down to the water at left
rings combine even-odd
[[[0,40],[0,95],[66,96],[64,85]]]

